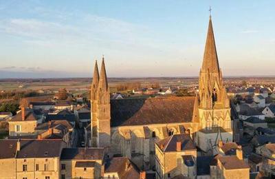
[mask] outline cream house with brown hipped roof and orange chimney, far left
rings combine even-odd
[[[9,135],[10,136],[29,136],[34,135],[35,127],[38,123],[42,123],[39,121],[34,115],[32,109],[25,109],[25,107],[21,107],[21,111],[18,112],[15,116],[12,117],[9,124]]]

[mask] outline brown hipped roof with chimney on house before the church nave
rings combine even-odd
[[[197,149],[189,134],[175,134],[159,140],[156,144],[162,151],[177,151],[177,142],[181,142],[181,151]]]

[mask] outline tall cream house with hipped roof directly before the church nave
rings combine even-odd
[[[175,134],[155,143],[156,178],[195,178],[197,148],[189,134]]]

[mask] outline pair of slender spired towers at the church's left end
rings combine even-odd
[[[110,119],[110,93],[103,57],[100,75],[96,61],[93,81],[91,83],[91,145],[93,147],[110,146]]]

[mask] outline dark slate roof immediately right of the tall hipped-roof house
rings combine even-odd
[[[210,175],[210,162],[214,156],[198,156],[197,157],[197,175]]]

